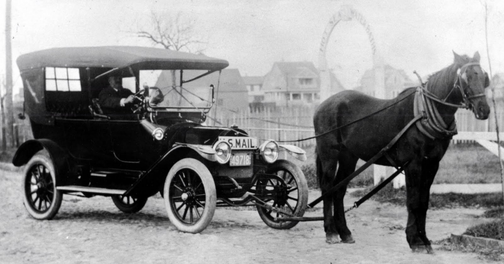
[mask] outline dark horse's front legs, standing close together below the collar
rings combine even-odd
[[[425,219],[429,189],[438,165],[438,163],[423,163],[420,160],[414,160],[405,170],[406,206],[408,208],[406,240],[413,251],[426,249],[429,253],[433,252],[430,242],[425,236]],[[433,168],[428,166],[433,166]]]

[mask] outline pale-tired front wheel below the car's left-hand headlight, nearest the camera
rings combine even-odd
[[[180,160],[168,172],[163,199],[168,219],[179,231],[200,233],[215,213],[214,179],[200,161]]]

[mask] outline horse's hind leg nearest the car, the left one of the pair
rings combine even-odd
[[[335,150],[336,151],[336,150]],[[329,159],[328,159],[329,157]],[[337,167],[337,152],[327,156],[325,159],[321,155],[317,155],[317,176],[319,178],[322,194],[326,193],[334,183],[335,172]],[[332,159],[331,159],[332,158]],[[326,242],[334,244],[339,242],[338,231],[333,218],[333,197],[328,195],[323,199],[324,203],[324,231],[326,232]]]

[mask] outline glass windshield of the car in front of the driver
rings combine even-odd
[[[182,80],[196,78],[207,71],[183,70]],[[140,84],[149,86],[149,106],[152,108],[209,109],[212,107],[212,88],[217,85],[219,73],[185,82],[180,86],[180,70],[142,70]]]

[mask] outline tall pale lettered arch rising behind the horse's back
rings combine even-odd
[[[320,43],[319,49],[319,70],[320,70],[320,81],[321,81],[321,101],[324,101],[329,96],[331,96],[331,72],[327,68],[327,59],[326,59],[326,50],[327,45],[329,44],[329,39],[331,37],[331,33],[333,33],[334,28],[341,21],[352,21],[355,20],[359,24],[364,27],[364,30],[367,33],[367,38],[369,43],[371,44],[371,53],[373,59],[373,69],[374,69],[374,78],[375,84],[374,87],[375,97],[385,98],[385,76],[384,76],[384,68],[383,68],[383,60],[377,51],[376,44],[374,42],[374,37],[371,32],[371,27],[366,22],[366,19],[360,14],[357,10],[353,9],[350,6],[343,6],[341,10],[334,14],[329,23],[326,26],[326,30],[324,30],[324,34],[322,35],[322,40]]]

